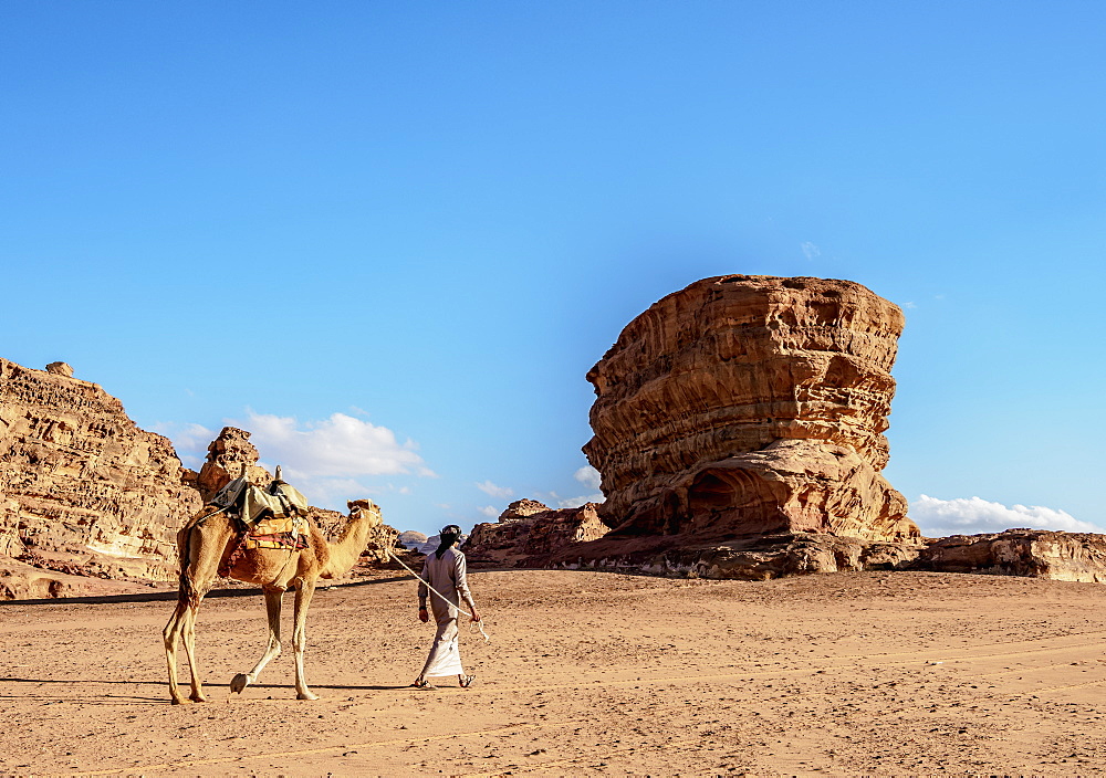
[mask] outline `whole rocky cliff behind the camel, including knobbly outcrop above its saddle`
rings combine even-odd
[[[244,472],[268,485],[250,433],[225,428],[199,473],[64,362],[0,359],[0,599],[106,595],[177,579],[176,533]],[[348,521],[310,514],[328,539]],[[398,532],[382,525],[352,575],[385,566]]]

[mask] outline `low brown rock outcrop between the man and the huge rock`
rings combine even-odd
[[[511,503],[497,523],[478,524],[462,546],[476,564],[540,567],[554,555],[571,556],[572,548],[609,532],[599,521],[595,503],[578,508],[553,509],[535,500]]]

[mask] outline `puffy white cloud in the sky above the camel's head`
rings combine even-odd
[[[247,421],[232,423],[249,430],[250,442],[289,475],[342,479],[413,471],[435,475],[416,453],[418,446],[413,441],[399,443],[386,427],[345,413],[301,424],[294,417],[248,412]]]

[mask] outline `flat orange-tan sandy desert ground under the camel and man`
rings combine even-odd
[[[1100,585],[567,571],[471,584],[492,642],[462,634],[469,690],[407,686],[432,634],[410,580],[320,591],[315,702],[294,698],[290,652],[231,696],[262,649],[255,595],[205,601],[212,701],[182,706],[168,704],[160,644],[171,602],[0,604],[0,774],[1106,774]]]

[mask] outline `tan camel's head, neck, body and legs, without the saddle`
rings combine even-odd
[[[317,700],[307,688],[303,674],[303,651],[306,643],[307,608],[320,578],[334,578],[347,572],[357,561],[368,543],[368,533],[384,523],[380,508],[369,500],[348,503],[349,522],[337,542],[330,544],[310,522],[307,547],[302,550],[253,548],[240,553],[230,568],[229,578],[257,584],[265,598],[269,616],[269,644],[258,663],[248,673],[239,673],[230,682],[232,692],[241,693],[269,662],[281,653],[280,611],[284,592],[295,588],[294,628],[292,648],[295,652],[295,696],[299,700]],[[234,550],[237,530],[234,519],[219,512],[213,505],[200,509],[177,533],[180,555],[180,588],[177,607],[165,625],[165,656],[169,664],[169,695],[174,705],[189,701],[207,702],[196,665],[196,614],[204,596],[215,584],[220,563]],[[185,655],[191,673],[191,694],[182,697],[177,686],[177,643],[184,639]]]

